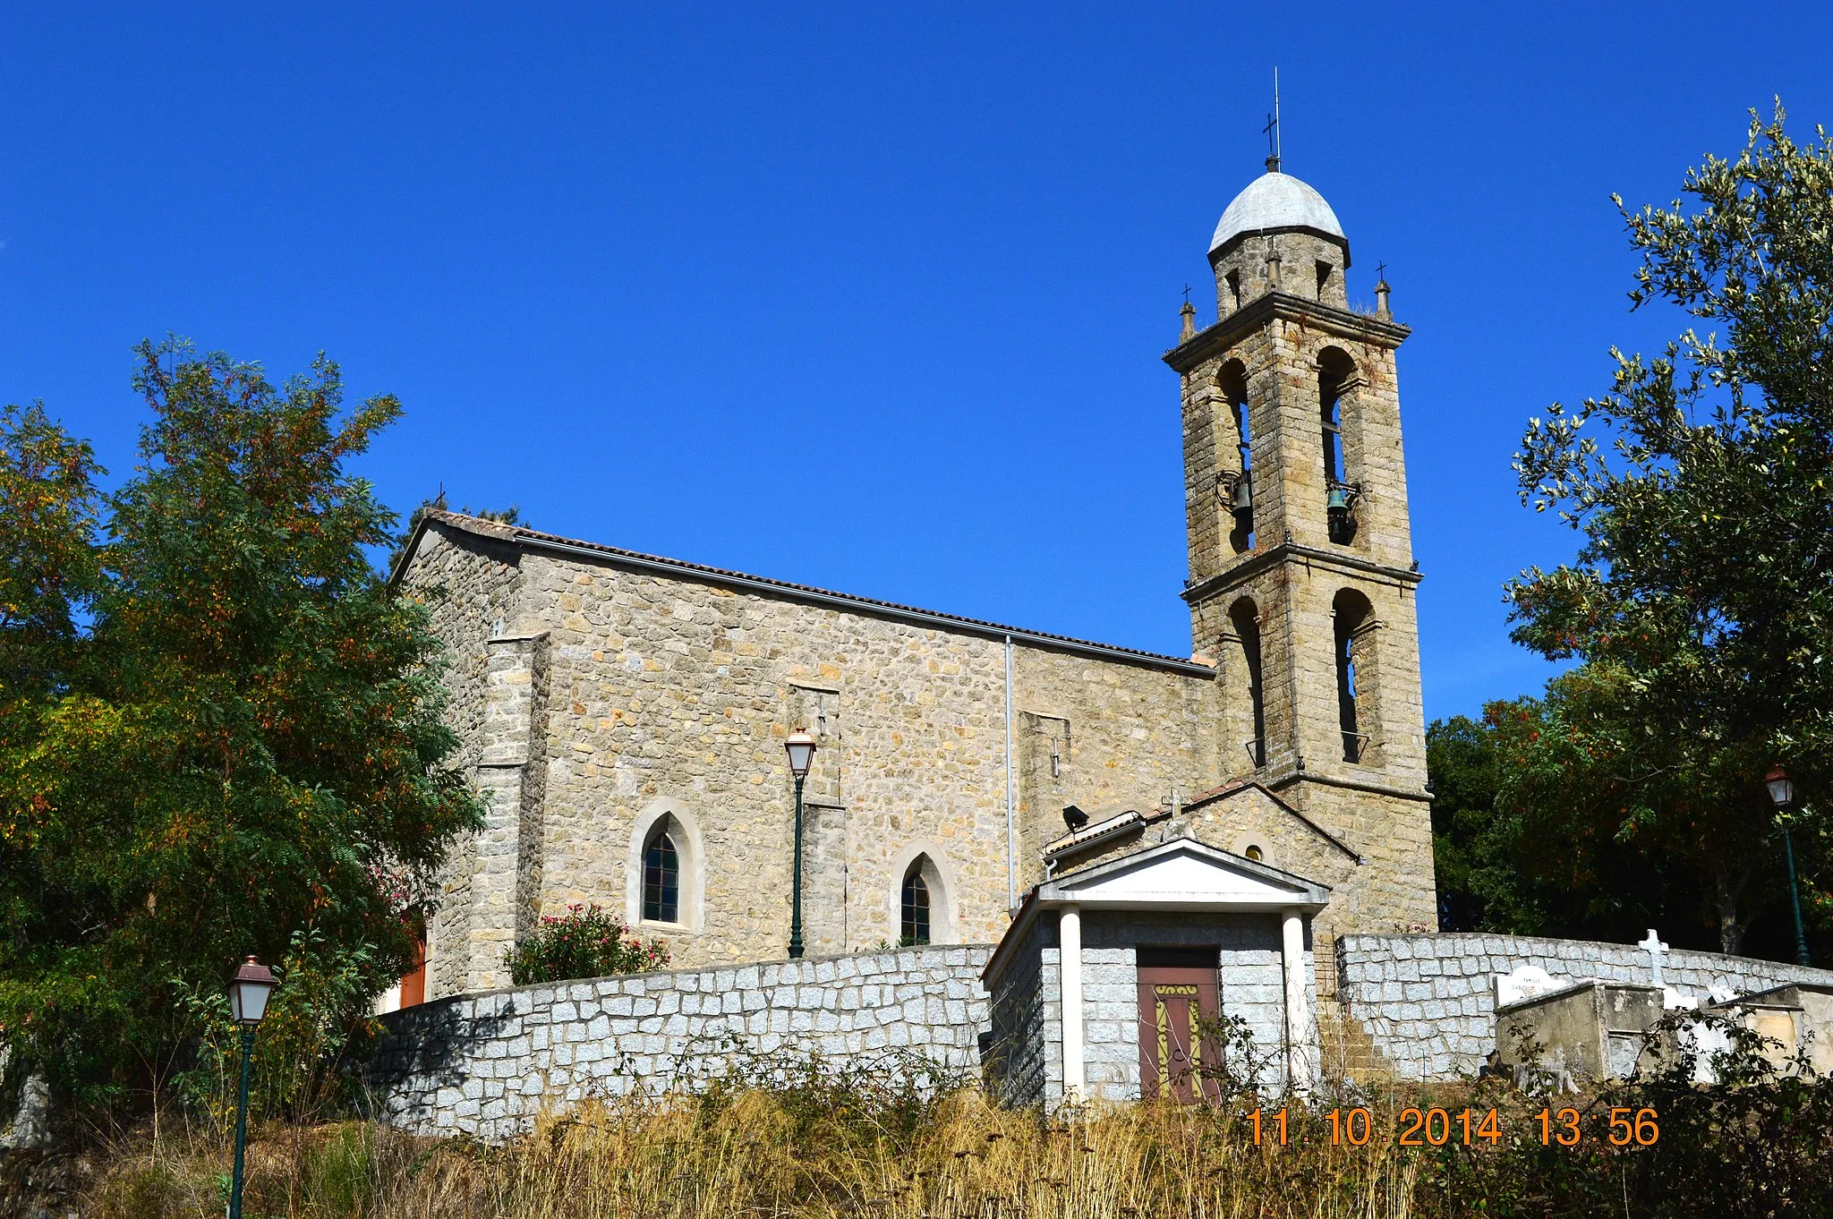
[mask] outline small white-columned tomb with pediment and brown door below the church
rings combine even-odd
[[[982,981],[1006,1093],[1047,1105],[1195,1098],[1217,1049],[1197,1030],[1246,1023],[1296,1087],[1314,1078],[1309,920],[1329,889],[1193,838],[1034,887]]]

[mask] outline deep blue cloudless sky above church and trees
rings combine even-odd
[[[1499,601],[1573,550],[1523,422],[1679,328],[1626,313],[1609,192],[1774,93],[1833,123],[1824,4],[290,7],[0,18],[0,400],[115,477],[134,341],[323,348],[407,403],[361,464],[403,513],[1186,654],[1158,357],[1278,64],[1351,299],[1386,260],[1415,330],[1428,717],[1547,673]]]

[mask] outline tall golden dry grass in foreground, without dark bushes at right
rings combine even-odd
[[[422,1140],[367,1122],[273,1127],[249,1151],[247,1219],[1129,1219],[1413,1214],[1419,1166],[1371,1138],[1331,1146],[1316,1118],[1294,1146],[1256,1148],[1241,1116],[1177,1105],[1036,1111],[962,1091],[896,1129],[884,1113],[816,1111],[746,1089],[588,1102],[499,1148]],[[1377,1113],[1391,1129],[1391,1115]],[[225,1148],[123,1149],[90,1192],[97,1219],[222,1215]]]

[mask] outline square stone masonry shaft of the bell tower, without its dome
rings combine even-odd
[[[1279,242],[1298,242],[1279,236]],[[1294,253],[1303,253],[1292,244]],[[1263,257],[1263,255],[1259,255]],[[1256,264],[1257,266],[1257,264]],[[1309,255],[1294,266],[1311,268]],[[1303,297],[1309,290],[1289,286]],[[1226,310],[1224,310],[1226,313]],[[1168,356],[1184,379],[1186,508],[1191,528],[1195,649],[1217,662],[1228,715],[1219,724],[1224,766],[1252,770],[1301,814],[1342,838],[1360,863],[1301,843],[1281,845],[1292,871],[1333,887],[1318,935],[1435,926],[1432,819],[1426,783],[1419,623],[1411,570],[1406,460],[1395,346],[1386,317],[1351,313],[1342,301],[1259,299]],[[1356,372],[1340,394],[1342,469],[1362,488],[1347,543],[1331,541],[1322,438],[1320,367],[1331,348]],[[1228,376],[1239,361],[1254,469],[1254,546],[1235,552],[1212,519],[1230,464],[1234,422]],[[1201,510],[1201,511],[1199,511]],[[1345,759],[1338,706],[1336,598],[1367,599],[1355,640],[1356,728],[1362,757]],[[1245,629],[1243,621],[1254,623]],[[1265,764],[1248,768],[1254,737],[1250,654],[1257,654]],[[1234,812],[1234,810],[1230,810]],[[1195,830],[1217,841],[1210,827]],[[1228,827],[1221,832],[1234,834]],[[1221,841],[1217,845],[1228,845]],[[1298,847],[1298,849],[1296,849]],[[1320,983],[1334,990],[1325,968]]]

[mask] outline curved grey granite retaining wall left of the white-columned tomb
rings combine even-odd
[[[981,970],[992,948],[906,948],[521,986],[392,1012],[368,1083],[392,1126],[506,1138],[543,1107],[715,1072],[733,1043],[885,1061],[909,1052],[979,1069]]]

